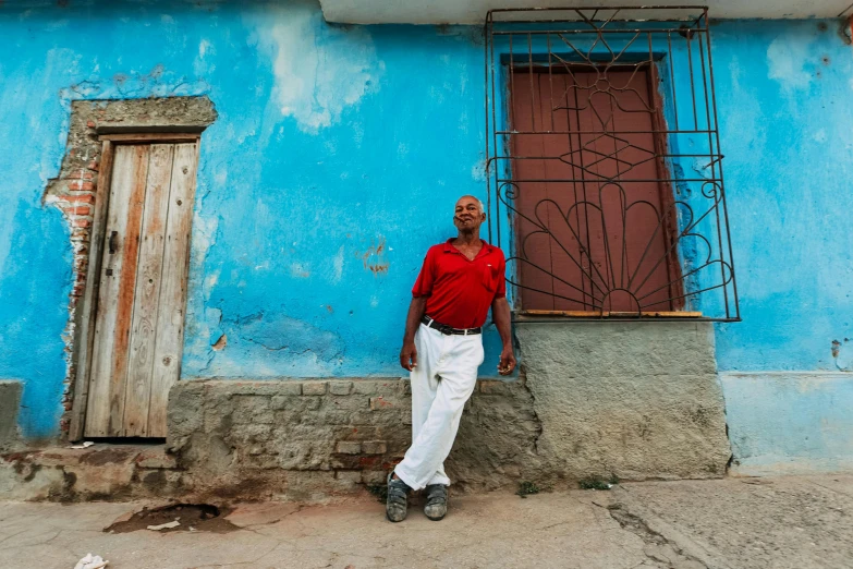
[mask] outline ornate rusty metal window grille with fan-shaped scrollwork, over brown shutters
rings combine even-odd
[[[516,317],[740,320],[707,8],[492,10],[485,36]]]

